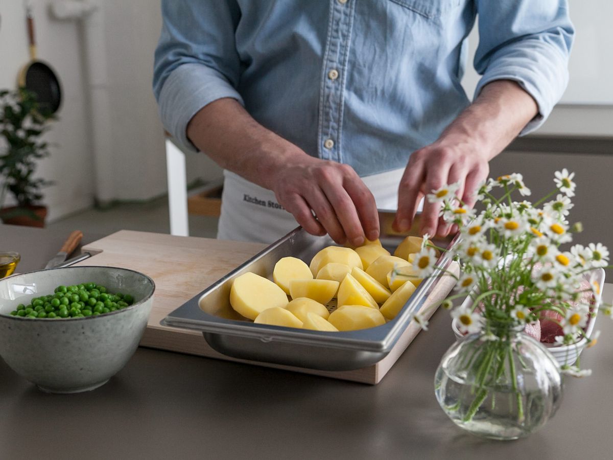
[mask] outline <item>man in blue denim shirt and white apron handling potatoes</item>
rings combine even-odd
[[[227,170],[220,236],[261,241],[296,221],[375,239],[390,188],[398,231],[444,184],[474,204],[488,161],[562,96],[574,34],[565,0],[162,0],[162,14],[164,126]],[[422,233],[449,234],[437,206]]]

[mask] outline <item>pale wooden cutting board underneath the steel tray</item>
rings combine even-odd
[[[260,366],[370,384],[381,381],[381,378],[419,332],[420,329],[415,324],[409,325],[386,358],[373,366],[343,372],[303,369],[302,367],[279,366],[230,358],[210,348],[200,332],[169,328],[159,324],[162,318],[165,318],[170,312],[265,247],[266,245],[259,243],[121,230],[83,247],[83,251],[90,251],[93,256],[77,265],[123,267],[137,270],[153,278],[156,290],[147,329],[140,342],[143,347],[161,348],[229,361],[249,362]],[[457,264],[454,263],[451,271],[457,273]],[[428,297],[426,305],[440,303],[451,291],[453,285],[453,278],[443,277]]]

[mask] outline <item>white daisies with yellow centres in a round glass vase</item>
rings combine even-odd
[[[448,274],[459,292],[443,306],[467,334],[441,359],[435,394],[449,418],[473,434],[516,439],[536,431],[560,404],[560,373],[590,373],[579,368],[579,348],[596,342],[588,323],[593,326],[598,311],[612,313],[611,305],[600,304],[609,251],[601,243],[565,247],[581,231],[567,220],[573,177],[566,169],[556,172],[555,190],[535,204],[523,199],[530,190],[521,174],[490,179],[478,191],[485,208],[479,213],[457,199],[457,184],[427,196],[440,204],[444,221],[460,229],[449,251],[463,274]],[[522,201],[513,201],[513,192]],[[431,246],[424,236],[412,267],[419,278],[440,271]],[[402,272],[395,269],[396,276]],[[454,307],[452,300],[462,297]],[[428,314],[416,313],[414,320],[425,328]],[[556,347],[566,350],[558,359],[550,353]]]

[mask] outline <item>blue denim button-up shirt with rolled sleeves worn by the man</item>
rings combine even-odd
[[[406,166],[469,104],[460,85],[479,15],[474,67],[518,82],[537,128],[568,83],[565,0],[162,0],[153,88],[162,122],[186,126],[219,98],[309,155],[359,175]]]

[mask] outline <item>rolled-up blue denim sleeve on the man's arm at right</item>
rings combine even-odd
[[[482,75],[475,98],[494,80],[514,80],[539,113],[520,135],[538,128],[568,85],[574,28],[564,0],[477,0],[479,46],[474,68]]]

